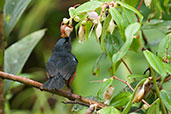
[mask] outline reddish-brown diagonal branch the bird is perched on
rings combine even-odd
[[[38,88],[41,91],[47,91],[50,93],[54,93],[56,95],[66,97],[68,99],[74,99],[74,100],[86,103],[88,105],[97,104],[97,108],[100,108],[100,109],[107,106],[107,105],[102,104],[100,102],[97,102],[97,101],[94,101],[94,100],[91,100],[91,99],[88,99],[88,98],[85,98],[85,97],[82,97],[82,96],[79,96],[76,94],[71,94],[70,92],[67,92],[67,91],[63,91],[63,90],[55,90],[54,91],[54,90],[42,89],[42,85],[43,85],[42,83],[39,83],[37,81],[31,80],[31,79],[26,78],[26,77],[16,76],[16,75],[8,74],[8,73],[2,72],[2,71],[0,71],[0,77],[4,78],[4,79],[8,79],[8,80],[21,82],[21,83],[30,85],[32,87]]]

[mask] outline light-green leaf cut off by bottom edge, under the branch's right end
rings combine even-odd
[[[120,114],[120,111],[115,107],[105,107],[100,110],[99,114]]]

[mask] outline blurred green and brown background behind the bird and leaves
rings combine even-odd
[[[69,7],[83,2],[85,2],[85,0],[32,0],[11,33],[10,37],[12,38],[9,38],[8,46],[36,30],[47,28],[47,32],[31,53],[21,75],[28,76],[29,78],[42,83],[47,80],[45,65],[51,55],[53,46],[60,38],[60,23],[64,17],[69,17]],[[146,8],[144,4],[142,5],[141,10],[141,13],[143,13],[146,20],[150,10]],[[169,20],[171,17],[165,14],[163,19]],[[145,29],[144,32],[155,52],[158,43],[165,33],[158,30],[158,28]],[[111,61],[106,58],[100,67],[100,75],[98,77],[93,76],[92,67],[97,57],[102,53],[99,44],[96,42],[96,38],[92,37],[88,41],[85,40],[83,44],[80,44],[78,43],[78,38],[75,38],[74,34],[72,36],[72,51],[79,61],[77,76],[72,88],[76,94],[84,97],[96,96],[101,83],[91,81],[110,77],[109,68],[111,67]],[[133,73],[143,74],[144,70],[148,67],[143,55],[135,52],[129,52],[127,55],[128,56],[126,56],[124,60],[128,63]],[[123,80],[127,80],[129,72],[123,64],[121,64],[116,75]],[[62,101],[67,100],[63,97],[41,92],[40,90],[27,85],[18,83],[15,83],[15,85],[16,86],[13,86],[13,88],[8,91],[6,96],[7,102],[5,108],[7,114],[72,113],[72,105],[64,105],[61,103]],[[116,80],[113,85],[115,87],[114,94],[117,94],[117,92],[125,87],[124,84]],[[77,113],[82,114],[84,111],[85,109]]]

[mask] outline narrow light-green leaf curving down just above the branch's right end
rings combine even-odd
[[[106,89],[112,84],[113,79],[107,79],[105,82],[103,82],[102,86],[100,87],[100,89],[97,92],[97,98],[98,99],[103,99],[103,94],[106,91]]]

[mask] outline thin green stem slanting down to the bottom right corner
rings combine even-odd
[[[162,99],[161,99],[161,97],[160,97],[160,91],[159,91],[159,88],[158,88],[158,86],[157,86],[157,82],[156,82],[156,79],[155,79],[155,77],[154,77],[154,71],[153,71],[153,69],[152,69],[151,66],[150,66],[150,69],[151,69],[151,76],[152,76],[152,78],[153,78],[153,84],[154,84],[154,86],[155,86],[157,96],[158,96],[159,99],[160,99],[160,102],[161,102],[161,106],[162,106],[163,112],[164,112],[164,114],[167,114],[166,108],[165,108],[165,106],[164,106],[164,104],[163,104],[163,101],[162,101]]]

